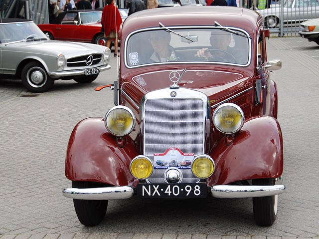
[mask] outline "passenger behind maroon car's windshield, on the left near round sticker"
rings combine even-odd
[[[176,54],[174,48],[169,45],[170,33],[167,31],[154,31],[150,34],[150,41],[154,51],[141,57],[142,63],[177,61],[182,56]]]

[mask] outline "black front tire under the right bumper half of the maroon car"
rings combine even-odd
[[[253,185],[274,185],[275,179],[254,179]],[[271,226],[277,218],[278,195],[253,198],[254,219],[259,226]]]

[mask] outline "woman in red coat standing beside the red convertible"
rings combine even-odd
[[[112,40],[114,40],[115,52],[118,53],[118,34],[122,23],[121,14],[114,5],[114,0],[106,0],[107,5],[103,8],[101,23],[104,26],[104,37],[107,37],[106,46],[110,48]]]

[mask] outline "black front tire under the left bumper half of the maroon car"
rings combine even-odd
[[[99,184],[93,182],[72,181],[73,188],[95,188]],[[85,226],[97,226],[105,218],[108,208],[108,200],[79,200],[73,199],[76,215],[81,224]]]

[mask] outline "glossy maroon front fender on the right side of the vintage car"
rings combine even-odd
[[[233,142],[226,145],[227,140],[222,138],[210,154],[215,161],[215,172],[208,179],[208,186],[282,175],[283,138],[275,118],[251,117]]]

